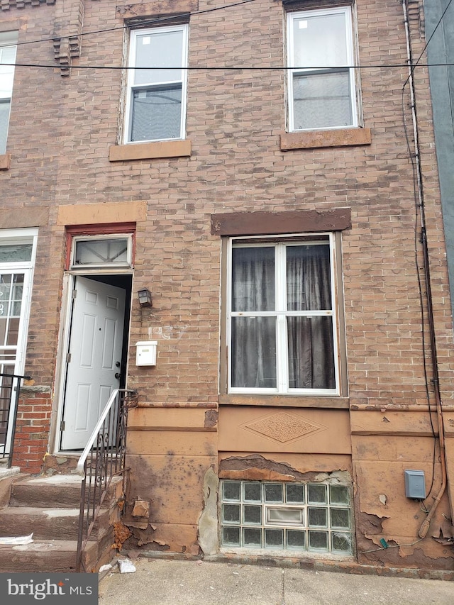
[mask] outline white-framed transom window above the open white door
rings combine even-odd
[[[99,235],[72,239],[71,268],[131,267],[132,238],[127,235]]]

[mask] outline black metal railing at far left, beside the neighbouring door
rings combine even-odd
[[[0,372],[0,464],[7,468],[13,464],[17,408],[23,379],[31,377]]]

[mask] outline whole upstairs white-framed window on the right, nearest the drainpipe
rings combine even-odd
[[[358,126],[349,6],[289,13],[289,131]]]

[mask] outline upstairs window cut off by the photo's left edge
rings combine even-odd
[[[14,66],[16,61],[17,32],[0,33],[0,154],[6,152],[9,112],[13,96]]]

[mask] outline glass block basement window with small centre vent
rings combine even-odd
[[[223,481],[226,548],[351,555],[350,488],[326,483]]]

